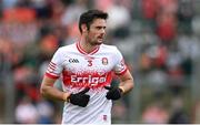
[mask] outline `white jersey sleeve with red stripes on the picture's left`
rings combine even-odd
[[[46,76],[51,79],[58,79],[60,76],[60,73],[62,72],[62,55],[60,49],[57,50],[57,52],[53,54],[53,58],[51,59],[51,62],[48,65],[48,69],[46,71]]]

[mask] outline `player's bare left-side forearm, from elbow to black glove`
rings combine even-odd
[[[62,92],[53,86],[41,86],[40,92],[42,96],[59,101],[67,101],[70,93]]]

